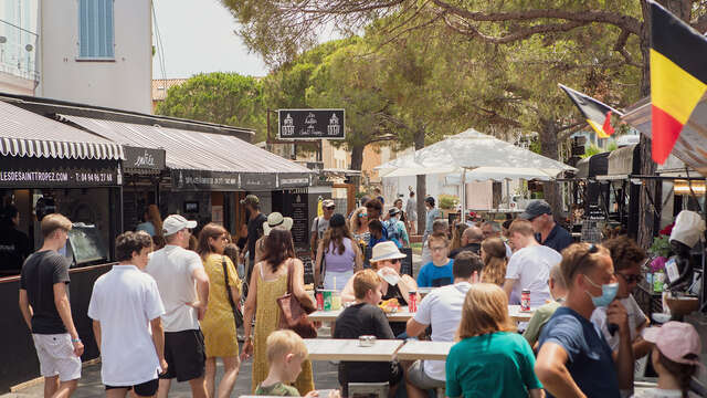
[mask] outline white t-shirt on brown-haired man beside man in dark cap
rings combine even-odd
[[[510,294],[509,304],[520,303],[520,292],[530,291],[530,305],[540,306],[550,297],[550,269],[562,261],[562,255],[544,245],[531,245],[515,252],[508,261],[506,279],[518,280]]]

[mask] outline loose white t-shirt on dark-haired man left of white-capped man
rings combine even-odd
[[[157,378],[159,359],[149,322],[165,308],[152,276],[135,265],[114,265],[93,286],[88,316],[101,323],[101,378],[134,386]]]

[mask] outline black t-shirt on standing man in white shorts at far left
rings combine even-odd
[[[32,333],[66,333],[54,304],[54,284],[62,282],[68,284],[68,260],[53,250],[36,252],[22,265],[20,289],[27,291],[34,312]]]

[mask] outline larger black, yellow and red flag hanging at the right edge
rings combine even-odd
[[[662,165],[707,91],[707,39],[661,4],[648,2],[653,160]]]

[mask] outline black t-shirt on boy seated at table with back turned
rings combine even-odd
[[[376,336],[381,339],[393,339],[383,311],[376,305],[360,303],[344,310],[336,320],[334,338],[359,338]],[[382,383],[389,381],[390,363],[342,362],[339,366],[339,381],[347,383]]]

